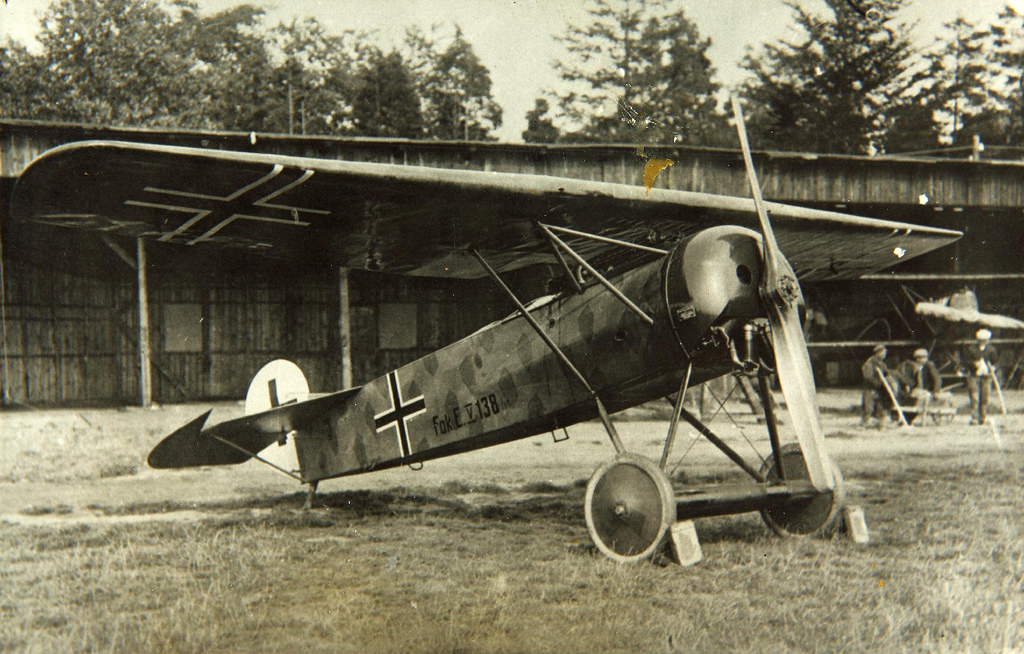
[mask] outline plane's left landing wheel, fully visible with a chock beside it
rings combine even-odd
[[[587,529],[608,558],[632,563],[652,557],[676,520],[672,483],[651,461],[623,452],[587,484]]]

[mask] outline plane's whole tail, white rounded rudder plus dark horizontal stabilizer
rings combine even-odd
[[[295,373],[298,373],[297,378]],[[303,400],[301,398],[310,395],[298,366],[290,361],[271,361],[257,373],[250,385],[245,418],[204,429],[211,411],[203,413],[160,441],[150,452],[150,467],[196,468],[241,464],[279,443],[278,451],[262,453],[260,457],[285,470],[295,470],[298,463],[294,444],[288,435],[293,431],[302,432],[314,421],[323,422],[325,413],[340,408],[358,391],[359,387],[356,387]],[[260,410],[263,402],[266,409]],[[256,412],[250,412],[250,409]]]

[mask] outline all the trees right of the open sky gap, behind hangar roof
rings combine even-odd
[[[975,136],[990,149],[1024,145],[1024,19],[1009,4],[988,26],[948,23],[923,47],[899,17],[903,0],[823,1],[823,11],[788,3],[794,36],[740,62],[748,76],[731,90],[758,147],[969,152]],[[735,145],[711,41],[678,3],[596,0],[562,41],[569,56],[556,66],[569,90],[537,100],[526,140]]]

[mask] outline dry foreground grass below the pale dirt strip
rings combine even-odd
[[[1019,452],[1018,452],[1019,454]],[[194,523],[8,527],[10,651],[949,651],[1024,647],[1019,457],[852,474],[873,542],[698,523],[694,568],[589,544],[582,489],[454,484],[202,508]],[[479,491],[488,502],[467,502]],[[135,514],[163,508],[135,507]],[[120,513],[120,512],[116,512]]]

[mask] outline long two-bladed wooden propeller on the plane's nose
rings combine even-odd
[[[761,224],[765,271],[761,277],[759,291],[761,302],[768,313],[768,323],[771,325],[779,385],[782,387],[782,395],[785,397],[785,404],[797,433],[797,442],[800,443],[800,449],[804,453],[811,484],[817,490],[833,489],[836,487],[835,467],[825,450],[824,433],[821,431],[821,419],[818,415],[817,392],[814,388],[814,374],[811,369],[810,356],[807,354],[804,331],[800,324],[803,293],[797,281],[797,275],[785,261],[775,241],[775,232],[768,219],[764,198],[761,197],[761,185],[754,171],[743,113],[736,97],[732,96],[731,99],[736,131],[739,133],[739,145],[743,151],[743,165],[746,167],[746,179],[751,185],[754,207],[757,209]]]

